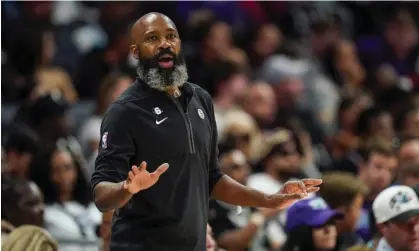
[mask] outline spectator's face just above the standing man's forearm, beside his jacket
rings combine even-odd
[[[246,184],[250,173],[246,156],[239,150],[232,151],[220,160],[221,169],[240,184]]]

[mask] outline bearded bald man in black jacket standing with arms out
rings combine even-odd
[[[234,205],[286,208],[318,191],[321,180],[307,179],[266,195],[223,175],[212,100],[187,82],[174,23],[149,13],[131,36],[138,78],[103,119],[91,178],[96,206],[115,210],[111,251],[205,250],[210,195]]]

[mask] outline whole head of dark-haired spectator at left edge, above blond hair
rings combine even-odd
[[[2,174],[1,195],[2,227],[6,230],[22,225],[44,225],[42,193],[34,182]]]

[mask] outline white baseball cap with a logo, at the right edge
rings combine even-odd
[[[372,204],[372,210],[377,223],[389,220],[404,223],[419,215],[419,199],[412,188],[395,185],[378,194]]]

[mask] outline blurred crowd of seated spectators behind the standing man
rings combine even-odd
[[[1,7],[4,250],[108,250],[89,179],[150,11],[173,19],[189,80],[213,97],[225,174],[266,193],[323,179],[285,211],[210,201],[208,250],[419,250],[418,3]]]

